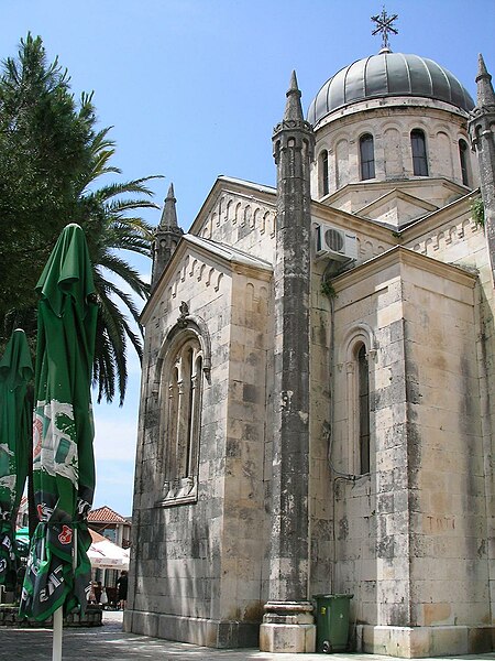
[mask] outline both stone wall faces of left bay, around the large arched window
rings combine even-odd
[[[267,543],[266,390],[260,375],[266,373],[270,274],[260,280],[256,273],[231,273],[208,263],[207,271],[216,274],[208,281],[189,274],[201,273],[200,261],[200,256],[189,256],[170,273],[157,313],[146,324],[135,582],[125,627],[198,644],[243,647],[257,640]],[[188,302],[193,317],[202,319],[212,353],[211,371],[202,378],[197,501],[179,505],[164,500],[166,440],[161,421],[166,403],[160,390],[166,383],[160,383],[157,370],[182,301]]]

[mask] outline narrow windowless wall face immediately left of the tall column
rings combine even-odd
[[[229,404],[224,448],[223,531],[219,616],[251,622],[253,631],[267,598],[270,548],[265,463],[271,464],[266,408],[270,282],[234,279],[230,328]]]

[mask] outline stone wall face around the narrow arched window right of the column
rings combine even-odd
[[[380,267],[378,267],[380,269]],[[342,277],[345,279],[345,277]],[[351,278],[351,282],[349,282]],[[339,280],[339,279],[337,279]],[[334,592],[353,594],[352,620],[396,617],[406,530],[394,530],[407,510],[404,325],[397,264],[334,281],[334,413],[331,447],[334,508]],[[370,356],[371,470],[360,475],[356,349]],[[387,614],[378,613],[386,608]]]

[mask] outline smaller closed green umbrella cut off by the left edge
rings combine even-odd
[[[12,333],[0,360],[0,585],[15,586],[15,517],[28,476],[31,407],[28,381],[33,376],[24,330]]]

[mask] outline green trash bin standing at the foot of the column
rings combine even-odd
[[[345,652],[349,640],[349,607],[354,595],[314,595],[316,600],[317,652]]]

